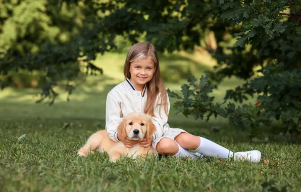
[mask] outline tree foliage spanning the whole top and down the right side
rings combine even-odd
[[[55,97],[51,91],[54,74],[74,78],[81,71],[79,59],[92,67],[96,53],[116,49],[117,37],[132,43],[144,39],[158,51],[173,52],[202,45],[202,39],[214,31],[218,47],[209,51],[218,65],[210,79],[217,83],[231,76],[246,80],[229,90],[225,99],[242,103],[250,96],[258,97],[258,108],[265,110],[262,117],[281,120],[289,130],[297,130],[301,121],[299,5],[300,0],[4,1],[0,8],[1,84],[6,85],[8,71],[38,69],[49,79],[43,95]],[[66,74],[67,69],[72,72]],[[199,107],[192,108],[205,114]],[[194,111],[188,104],[185,108],[185,113]],[[243,119],[261,122],[249,114],[249,108],[235,107],[235,113],[244,117],[239,124],[249,124]]]

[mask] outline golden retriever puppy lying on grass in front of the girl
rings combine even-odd
[[[140,141],[143,138],[149,139],[156,131],[156,126],[144,113],[129,113],[123,118],[117,130],[123,138],[127,137],[130,140]],[[141,147],[139,143],[132,148],[127,148],[122,142],[114,142],[109,138],[107,130],[100,130],[92,134],[77,154],[86,156],[89,150],[94,151],[95,149],[99,152],[106,151],[112,162],[116,162],[124,156],[137,159],[138,157],[145,158],[147,155],[154,155],[152,148]]]

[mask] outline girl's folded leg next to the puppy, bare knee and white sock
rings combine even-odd
[[[160,155],[164,154],[175,157],[190,157],[192,159],[200,157],[200,155],[194,154],[188,150],[183,149],[176,143],[176,141],[168,137],[162,138],[159,141],[159,143],[156,146],[156,150]]]

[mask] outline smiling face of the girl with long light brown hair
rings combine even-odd
[[[142,91],[145,83],[153,78],[155,71],[156,67],[151,57],[135,60],[130,64],[130,81],[136,89]]]

